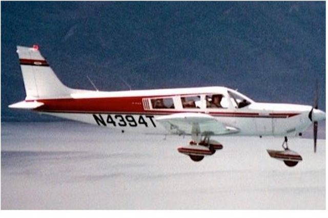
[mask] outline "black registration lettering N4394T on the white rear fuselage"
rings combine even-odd
[[[156,127],[156,124],[153,120],[154,116],[152,115],[136,115],[139,116],[135,119],[132,115],[107,115],[107,118],[104,119],[104,116],[101,114],[93,114],[94,120],[99,126],[114,126],[114,127],[122,127],[122,126],[131,126],[137,127],[138,125],[144,125],[146,127]],[[105,115],[106,116],[106,115]]]

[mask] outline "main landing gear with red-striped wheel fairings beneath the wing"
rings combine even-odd
[[[210,136],[205,136],[200,141],[190,141],[189,145],[178,148],[181,154],[188,155],[195,162],[201,161],[204,156],[210,156],[216,150],[222,149],[223,145],[215,140],[210,140]]]

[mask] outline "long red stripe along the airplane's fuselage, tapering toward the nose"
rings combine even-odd
[[[202,110],[188,108],[183,111],[176,109],[155,109],[145,110],[142,105],[142,98],[147,97],[110,97],[110,98],[81,98],[81,99],[38,99],[38,102],[44,105],[35,109],[39,112],[52,113],[87,113],[87,114],[151,114],[151,115],[167,115],[173,113],[204,113]],[[155,96],[158,97],[158,96]],[[188,110],[188,111],[187,111]],[[259,113],[244,112],[214,112],[209,111],[210,115],[219,117],[256,117],[256,118],[288,118],[298,115],[298,113],[271,113],[269,115],[261,115]]]

